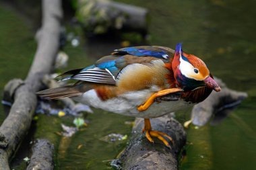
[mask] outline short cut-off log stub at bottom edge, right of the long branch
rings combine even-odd
[[[32,148],[32,156],[30,158],[27,170],[51,170],[53,163],[54,146],[46,139],[36,140]]]

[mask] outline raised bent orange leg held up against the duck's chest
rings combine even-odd
[[[139,110],[140,112],[147,110],[150,107],[150,105],[152,105],[152,103],[154,103],[154,100],[156,99],[156,97],[168,95],[170,93],[176,93],[179,91],[183,91],[183,89],[172,88],[172,89],[164,89],[164,90],[158,91],[158,92],[152,94],[150,96],[150,98],[148,98],[148,100],[145,103],[143,103],[142,105],[139,105],[139,107],[137,107],[137,110]]]

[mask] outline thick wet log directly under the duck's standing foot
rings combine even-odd
[[[154,144],[150,143],[141,133],[143,119],[136,118],[131,141],[117,161],[123,169],[178,169],[178,155],[186,142],[183,126],[170,114],[154,118],[151,123],[154,130],[160,130],[171,136],[174,144],[170,143],[171,148],[167,148],[156,138]]]

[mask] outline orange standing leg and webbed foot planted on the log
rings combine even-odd
[[[159,140],[161,140],[162,142],[164,142],[164,144],[168,148],[170,148],[170,144],[167,142],[167,140],[165,138],[163,138],[163,136],[164,136],[164,137],[168,138],[170,140],[170,142],[172,142],[172,144],[173,144],[173,140],[170,136],[168,136],[164,132],[152,130],[151,124],[150,124],[150,119],[144,119],[144,128],[143,128],[142,132],[146,132],[146,138],[148,138],[148,140],[150,140],[150,142],[152,142],[152,143],[154,143],[154,140],[152,139],[152,137],[156,137]]]

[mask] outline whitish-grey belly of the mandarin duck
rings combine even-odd
[[[152,91],[146,89],[133,93],[125,93],[119,97],[102,101],[92,89],[83,95],[72,98],[80,103],[91,105],[94,108],[100,108],[108,112],[115,112],[117,114],[134,116],[138,118],[157,118],[163,116],[164,114],[175,112],[177,110],[181,110],[182,108],[187,108],[193,105],[183,100],[161,101],[160,103],[154,102],[152,105],[150,105],[148,110],[139,112],[137,110],[137,106],[143,104],[148,97],[150,97],[150,95],[152,95]]]

